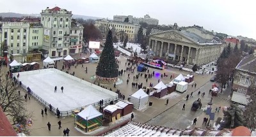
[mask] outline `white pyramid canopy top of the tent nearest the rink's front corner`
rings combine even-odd
[[[99,117],[102,115],[96,108],[94,108],[92,105],[87,106],[82,112],[77,113],[80,117],[82,117],[85,120],[90,120],[95,117]]]

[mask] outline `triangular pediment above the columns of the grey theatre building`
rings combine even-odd
[[[158,32],[156,34],[152,34],[151,36],[155,38],[164,39],[164,40],[179,41],[184,43],[195,43],[195,41],[189,40],[184,35],[176,31],[163,31],[163,32]]]

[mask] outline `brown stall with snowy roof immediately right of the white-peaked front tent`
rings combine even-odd
[[[103,109],[104,112],[104,119],[107,122],[115,122],[115,120],[120,119],[122,114],[122,108],[116,105],[108,105],[106,108]]]

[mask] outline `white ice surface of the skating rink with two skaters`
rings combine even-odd
[[[17,77],[17,73],[15,76]],[[19,80],[60,111],[74,110],[97,103],[101,99],[113,99],[117,96],[115,92],[92,84],[94,87],[97,86],[95,89],[90,86],[91,83],[57,69],[20,72]],[[57,86],[57,92],[54,92],[55,86]],[[61,86],[63,86],[63,92],[61,92]]]

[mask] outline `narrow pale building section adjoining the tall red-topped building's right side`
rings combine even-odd
[[[82,52],[83,46],[83,25],[72,20],[69,40],[69,54],[79,54]],[[68,41],[66,38],[65,41]]]

